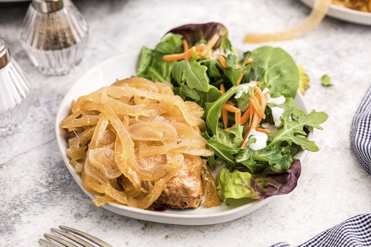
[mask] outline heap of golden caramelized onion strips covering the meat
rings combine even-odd
[[[202,115],[171,87],[132,77],[73,101],[61,127],[76,134],[66,152],[83,187],[99,196],[97,206],[117,201],[148,208],[184,155],[201,160],[213,154],[200,136]]]

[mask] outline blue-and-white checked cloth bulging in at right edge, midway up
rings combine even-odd
[[[355,154],[371,173],[371,87],[354,116],[350,135]]]

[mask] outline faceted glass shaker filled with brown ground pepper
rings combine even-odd
[[[88,24],[70,0],[32,0],[23,20],[21,43],[43,74],[68,73],[83,57]]]

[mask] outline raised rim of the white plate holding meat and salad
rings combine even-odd
[[[85,76],[87,76],[90,73],[93,73],[93,71],[99,70],[100,68],[104,67],[107,64],[112,63],[112,61],[115,60],[120,60],[120,58],[125,58],[125,57],[139,57],[140,50],[132,50],[128,51],[122,54],[118,54],[112,57],[109,57],[105,60],[103,60],[101,63],[96,64],[95,66],[92,66],[90,69],[86,70],[83,72],[78,79],[75,80],[75,82],[72,83],[72,85],[69,87],[67,90],[65,96],[63,97],[62,101],[60,102],[57,114],[56,114],[56,119],[55,119],[55,134],[56,134],[56,139],[57,139],[57,144],[59,151],[62,155],[63,161],[68,168],[69,173],[72,175],[76,183],[79,185],[79,187],[85,192],[86,195],[88,195],[89,198],[95,199],[97,196],[94,194],[89,193],[88,191],[85,190],[82,186],[81,182],[81,176],[76,174],[75,171],[73,170],[73,167],[69,164],[69,158],[66,155],[65,152],[65,146],[62,144],[62,138],[65,138],[65,133],[63,133],[62,128],[60,128],[60,121],[64,119],[62,114],[66,111],[65,105],[66,103],[70,102],[67,100],[70,100],[68,97],[69,94],[71,94],[72,90],[74,90],[76,87],[78,87],[80,84],[84,83],[83,79]],[[123,59],[124,60],[124,59]],[[134,61],[133,61],[134,62]],[[97,79],[98,80],[98,79]],[[112,83],[112,82],[111,82]],[[99,83],[97,83],[99,84]],[[102,85],[101,85],[102,86]],[[98,88],[97,88],[98,89]],[[92,89],[97,90],[97,89]],[[298,90],[296,93],[296,97],[299,97],[299,100],[302,103],[303,111],[308,114],[309,113],[309,107],[306,103],[306,101],[303,98],[303,95],[300,93]],[[75,99],[76,100],[76,99]],[[61,117],[63,117],[61,119]],[[313,140],[313,129],[311,128],[311,132],[308,134],[307,138],[309,140]],[[300,161],[302,162],[308,153],[308,150],[302,150],[300,154]],[[299,158],[299,157],[297,157]],[[266,203],[269,201],[273,200],[277,196],[271,196],[268,198],[265,198],[264,200],[260,201],[255,201],[252,203],[248,204],[243,204],[241,206],[237,207],[232,207],[228,210],[224,210],[221,212],[217,213],[210,213],[210,214],[180,214],[180,213],[175,213],[175,210],[182,210],[182,209],[177,209],[177,208],[169,208],[165,212],[158,212],[158,211],[150,211],[150,210],[145,210],[145,209],[140,209],[140,208],[134,208],[134,207],[129,207],[124,204],[119,204],[116,202],[108,202],[101,207],[105,208],[106,210],[109,210],[113,213],[120,214],[123,216],[131,217],[131,218],[137,218],[139,220],[147,220],[147,221],[152,221],[152,222],[158,222],[158,223],[167,223],[167,224],[181,224],[181,225],[208,225],[208,224],[218,224],[218,223],[223,223],[231,220],[235,220],[237,218],[240,218],[242,216],[245,216],[249,213],[252,213],[256,209],[264,206]],[[223,203],[224,204],[224,203]],[[224,204],[225,205],[225,204]],[[186,208],[184,210],[186,211],[197,211],[200,210],[202,206],[198,208]],[[221,206],[220,206],[221,207]],[[228,206],[225,206],[228,207]],[[174,211],[174,213],[173,213]]]

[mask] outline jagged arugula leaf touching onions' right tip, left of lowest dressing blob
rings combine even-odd
[[[210,137],[206,132],[202,133],[206,140],[206,148],[213,150],[214,155],[225,160],[228,167],[236,165],[233,154],[238,153],[243,143],[243,126],[237,124],[230,129],[230,132],[222,130],[220,133]]]

